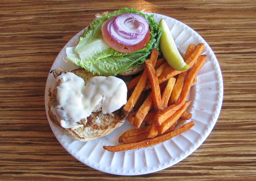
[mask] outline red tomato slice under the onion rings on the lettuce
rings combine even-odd
[[[148,30],[148,32],[146,33],[146,36],[145,38],[140,42],[140,43],[137,43],[135,45],[131,45],[131,46],[127,46],[127,45],[122,45],[118,42],[116,42],[115,40],[113,40],[110,35],[108,35],[108,32],[107,32],[107,25],[108,25],[108,22],[110,22],[114,17],[108,19],[107,21],[105,21],[103,24],[102,24],[102,27],[101,27],[101,33],[102,33],[102,36],[103,36],[103,39],[105,40],[105,42],[111,47],[113,48],[114,50],[117,50],[117,51],[120,51],[122,53],[132,53],[134,51],[137,51],[137,50],[140,50],[142,48],[144,48],[149,40],[150,40],[150,31]]]

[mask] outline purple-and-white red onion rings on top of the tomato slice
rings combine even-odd
[[[135,45],[141,42],[148,32],[146,18],[135,13],[125,13],[114,17],[107,25],[108,35],[122,45]]]

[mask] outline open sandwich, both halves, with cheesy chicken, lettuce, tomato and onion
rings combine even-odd
[[[114,76],[142,71],[150,52],[159,50],[161,34],[153,15],[135,9],[97,15],[79,43],[66,48],[66,59],[81,68],[50,72],[55,77],[49,90],[50,120],[78,141],[94,140],[121,126],[127,117],[127,87]]]

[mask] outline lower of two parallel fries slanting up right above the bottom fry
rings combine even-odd
[[[187,107],[190,105],[191,101],[187,101],[181,109],[176,111],[171,117],[169,117],[165,122],[163,122],[159,128],[158,131],[162,134],[164,133],[167,129],[169,129],[179,118],[180,116],[184,113],[184,111],[187,109]]]

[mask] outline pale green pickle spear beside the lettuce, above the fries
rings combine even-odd
[[[165,60],[175,70],[187,70],[188,66],[178,51],[174,39],[172,38],[171,31],[164,21],[164,18],[160,20],[159,26],[164,31],[160,38],[160,50],[162,51]]]

